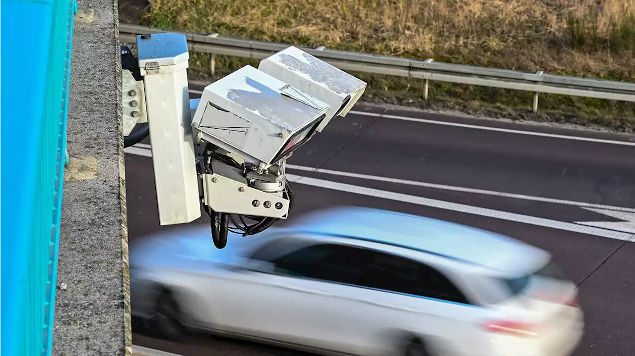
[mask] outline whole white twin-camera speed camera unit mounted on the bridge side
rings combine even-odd
[[[190,99],[185,35],[140,35],[137,48],[143,79],[126,78],[144,88],[135,94],[145,100],[131,107],[145,106],[138,110],[147,120],[127,115],[124,127],[130,134],[140,122],[149,125],[160,224],[191,222],[202,204],[217,248],[229,231],[251,236],[288,217],[295,193],[286,160],[331,118],[346,115],[366,87],[291,47]],[[133,94],[126,90],[127,105]]]

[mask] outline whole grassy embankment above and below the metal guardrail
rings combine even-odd
[[[149,0],[152,27],[298,46],[635,81],[635,0]],[[195,54],[192,72],[206,73]],[[218,58],[217,75],[257,62]],[[194,74],[194,73],[193,73]],[[635,129],[635,105],[355,73],[367,101]]]

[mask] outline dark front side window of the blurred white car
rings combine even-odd
[[[363,250],[352,246],[321,243],[288,253],[271,262],[281,274],[359,284],[362,276]]]

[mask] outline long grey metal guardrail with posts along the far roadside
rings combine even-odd
[[[124,23],[119,25],[119,41],[135,43],[137,41],[136,35],[155,34],[158,32],[185,34],[190,51],[210,54],[210,71],[212,73],[214,72],[214,54],[261,60],[290,46],[288,44],[218,37],[218,34],[192,34]],[[342,70],[423,79],[424,99],[428,97],[429,82],[436,80],[439,82],[534,92],[534,112],[538,110],[539,92],[635,102],[635,84],[631,82],[566,77],[564,75],[545,74],[544,71],[525,73],[514,70],[472,67],[440,63],[432,59],[422,61],[375,54],[335,51],[333,49],[324,49],[323,46],[302,49]]]

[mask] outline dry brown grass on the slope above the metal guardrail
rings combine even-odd
[[[149,0],[149,3],[144,22],[156,27],[635,81],[635,0]],[[624,107],[632,115],[632,108]]]

